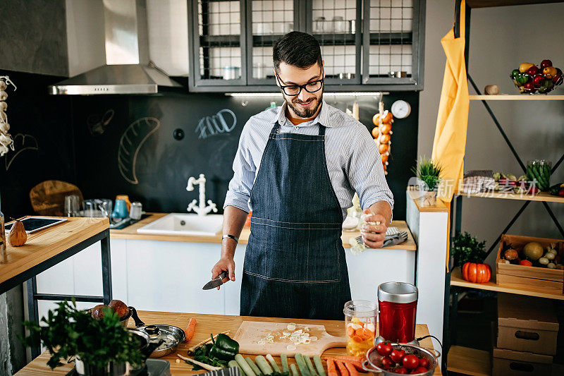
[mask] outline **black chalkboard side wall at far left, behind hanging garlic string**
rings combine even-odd
[[[53,97],[47,86],[63,77],[0,70],[9,85],[8,123],[15,150],[0,157],[0,204],[6,219],[33,214],[30,190],[57,179],[75,181],[71,97]]]

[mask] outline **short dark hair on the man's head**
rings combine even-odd
[[[309,68],[314,63],[321,66],[321,47],[313,35],[292,31],[274,43],[272,59],[276,72],[282,62],[302,69]]]

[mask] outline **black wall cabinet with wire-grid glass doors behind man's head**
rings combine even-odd
[[[277,91],[272,46],[292,30],[319,41],[328,92],[422,90],[424,8],[425,0],[188,0],[190,91]]]

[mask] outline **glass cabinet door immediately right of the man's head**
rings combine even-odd
[[[306,30],[321,46],[327,85],[360,83],[361,0],[307,1]]]

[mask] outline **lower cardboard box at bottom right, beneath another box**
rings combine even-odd
[[[552,356],[494,348],[493,376],[552,375]]]

